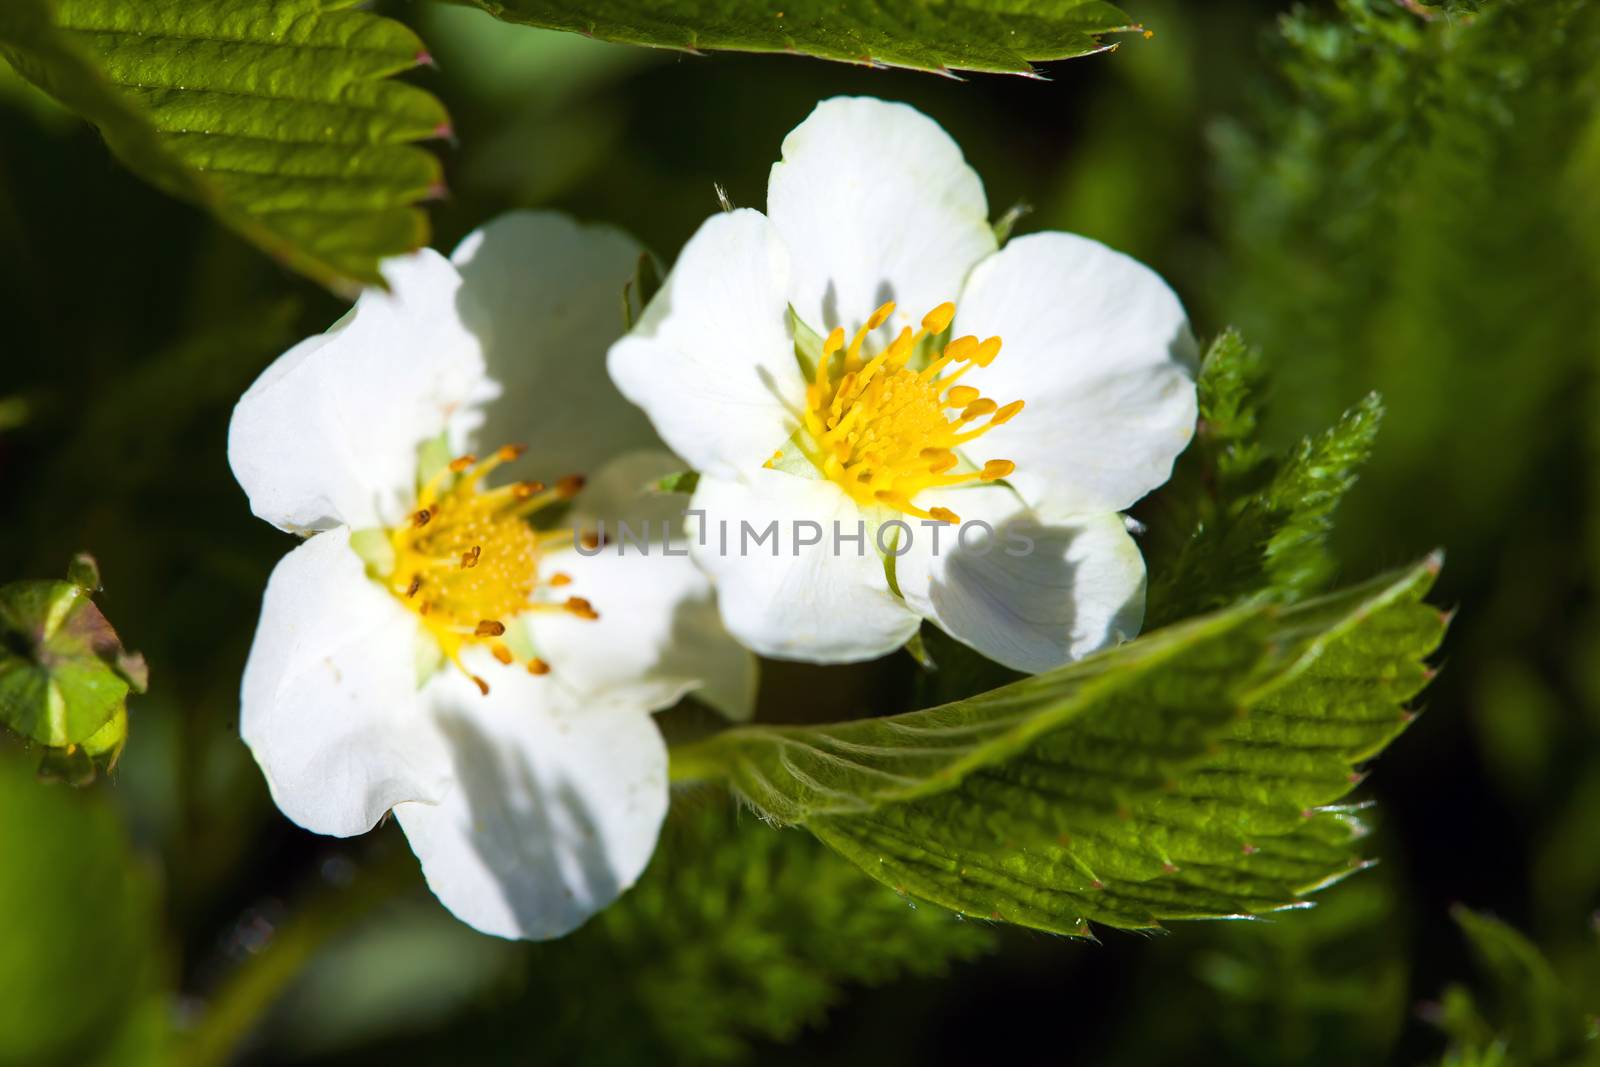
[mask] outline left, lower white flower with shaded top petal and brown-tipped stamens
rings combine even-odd
[[[693,563],[584,555],[573,526],[528,522],[574,496],[597,522],[586,501],[675,466],[600,470],[654,440],[603,370],[637,256],[510,214],[453,259],[390,261],[392,291],[280,357],[229,434],[251,509],[312,534],[272,573],[245,667],[272,797],[339,837],[392,809],[440,901],[506,937],[560,936],[643,872],[667,808],[651,710],[699,689],[742,715],[754,691]],[[491,488],[522,450],[478,461],[474,440],[526,442],[523,464],[563,477]],[[579,470],[598,470],[582,494]]]

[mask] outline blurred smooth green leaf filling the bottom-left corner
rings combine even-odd
[[[160,1064],[157,896],[107,798],[0,752],[0,1064]]]

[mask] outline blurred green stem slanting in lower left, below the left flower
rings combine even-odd
[[[234,971],[187,1035],[178,1067],[222,1067],[277,1003],[288,984],[336,934],[406,888],[406,849],[362,867],[344,886],[323,886],[274,933],[256,955]]]

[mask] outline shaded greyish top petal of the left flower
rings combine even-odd
[[[622,230],[554,211],[502,214],[461,242],[451,258],[461,318],[504,397],[486,413],[482,448],[526,443],[538,475],[554,480],[656,443],[605,371],[638,253]]]

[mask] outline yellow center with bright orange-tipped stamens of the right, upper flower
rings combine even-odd
[[[822,342],[816,379],[806,387],[800,451],[864,506],[958,523],[960,515],[947,507],[922,509],[912,501],[925,490],[995,482],[1016,470],[1010,459],[990,459],[979,470],[955,467],[962,462],[958,448],[1016,418],[1022,402],[1002,406],[960,384],[973,366],[994,362],[1000,338],[957,338],[928,366],[909,366],[918,342],[949,330],[955,304],[939,304],[923,317],[922,330],[906,326],[883,352],[862,360],[867,334],[893,312],[893,302],[872,312],[850,347],[842,328]]]

